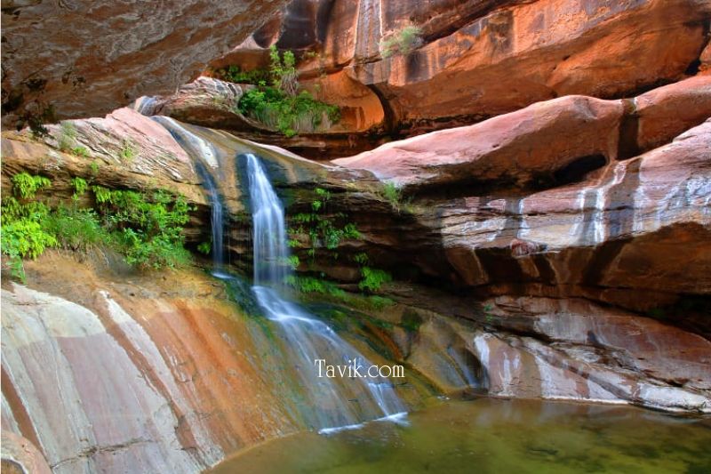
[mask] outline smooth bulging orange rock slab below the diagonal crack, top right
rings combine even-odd
[[[356,32],[347,70],[377,87],[400,120],[417,124],[497,115],[557,95],[619,96],[678,79],[699,57],[707,10],[707,4],[693,1],[519,4],[409,56],[385,60],[379,60],[377,44],[387,23],[363,28],[365,4],[337,28]],[[359,64],[373,55],[375,60]],[[640,62],[648,67],[637,67]],[[608,68],[611,63],[616,67]]]

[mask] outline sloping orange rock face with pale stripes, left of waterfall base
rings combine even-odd
[[[26,263],[28,285],[4,282],[3,437],[16,441],[4,459],[31,466],[19,450],[37,457],[34,445],[54,473],[196,473],[340,409],[303,403],[299,355],[245,312],[247,282],[140,274],[107,257],[50,251]]]

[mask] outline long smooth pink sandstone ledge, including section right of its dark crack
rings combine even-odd
[[[708,116],[711,77],[698,76],[633,100],[547,100],[333,162],[368,170],[405,192],[444,185],[467,186],[474,193],[477,186],[549,187],[667,143]]]

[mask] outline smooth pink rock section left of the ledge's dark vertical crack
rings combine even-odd
[[[368,170],[400,187],[490,181],[526,185],[581,157],[616,157],[621,116],[620,102],[563,97],[333,163]]]

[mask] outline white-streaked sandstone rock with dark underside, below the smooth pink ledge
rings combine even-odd
[[[707,294],[710,153],[707,121],[571,186],[466,198],[440,213],[444,248],[467,285],[495,292],[530,285],[525,291],[635,309],[675,293]],[[521,239],[541,250],[522,256],[509,248]]]

